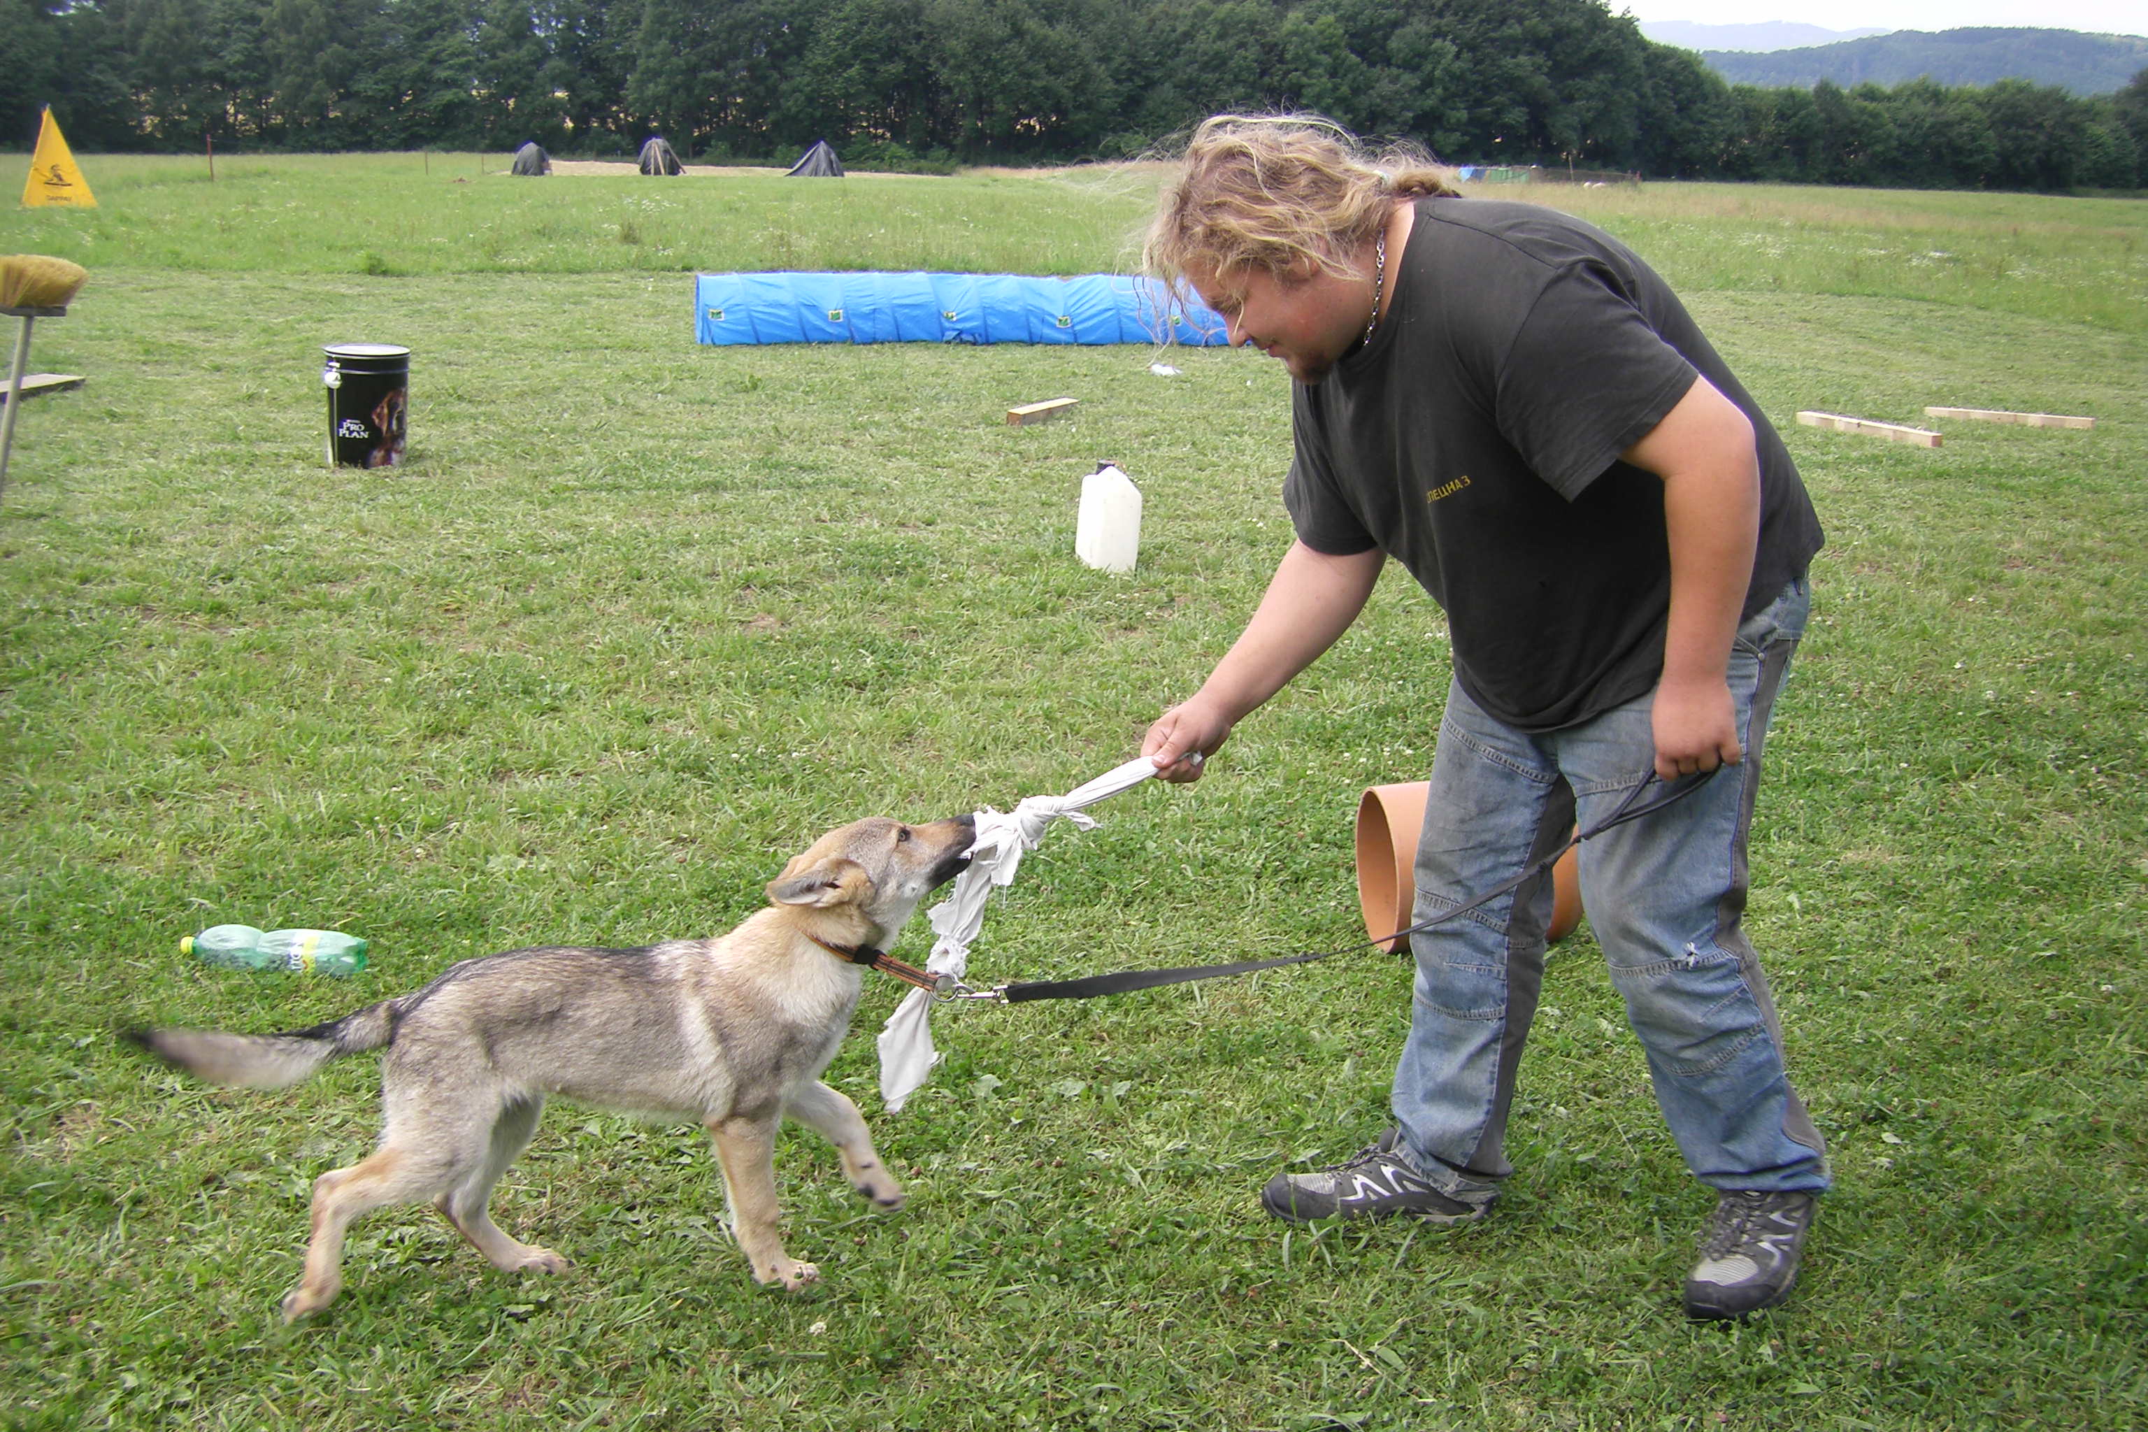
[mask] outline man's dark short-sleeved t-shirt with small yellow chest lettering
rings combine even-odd
[[[1819,517],[1783,440],[1622,243],[1534,204],[1431,198],[1388,273],[1373,341],[1295,384],[1282,500],[1308,547],[1379,547],[1424,584],[1484,711],[1559,730],[1654,689],[1671,603],[1663,479],[1617,455],[1695,371],[1759,442],[1744,616],[1804,573]]]

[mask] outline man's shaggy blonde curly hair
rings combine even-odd
[[[1141,247],[1173,288],[1190,264],[1214,273],[1312,264],[1338,277],[1398,200],[1454,195],[1452,172],[1413,146],[1368,150],[1312,114],[1218,114],[1186,144]]]

